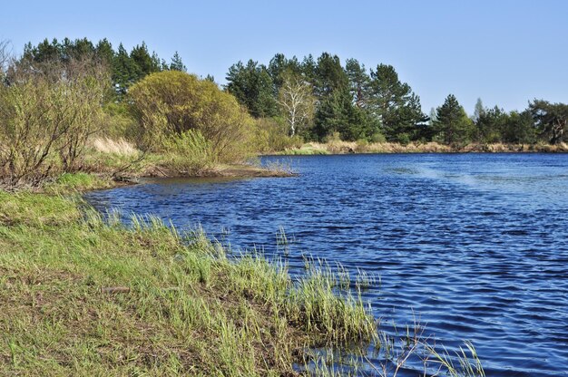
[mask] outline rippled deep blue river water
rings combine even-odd
[[[150,181],[87,198],[267,256],[282,256],[283,227],[292,272],[308,254],[380,276],[365,298],[382,323],[417,318],[450,348],[471,340],[488,376],[568,375],[568,155],[285,160],[299,177]]]

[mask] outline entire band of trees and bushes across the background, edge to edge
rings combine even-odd
[[[110,147],[96,138],[123,140],[122,150],[188,174],[304,142],[565,150],[568,140],[564,103],[534,99],[507,112],[478,100],[468,116],[449,94],[426,115],[392,65],[367,69],[330,53],[234,63],[220,87],[210,75],[187,73],[178,53],[166,62],[143,42],[128,52],[107,39],[45,39],[17,57],[9,47],[0,41],[0,177],[12,183],[101,169],[87,152]]]

